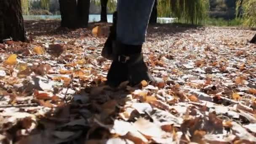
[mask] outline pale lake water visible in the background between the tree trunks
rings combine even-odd
[[[61,20],[60,15],[23,15],[24,20]],[[113,15],[107,15],[107,21],[112,23]],[[101,20],[101,15],[99,14],[90,14],[89,15],[89,22],[96,22]],[[175,19],[174,18],[157,18],[157,22],[161,24],[172,23]]]

